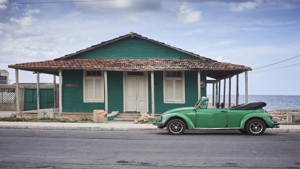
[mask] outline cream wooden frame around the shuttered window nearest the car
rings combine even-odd
[[[168,70],[169,71],[169,70]],[[176,72],[179,72],[177,70],[175,70]],[[182,77],[166,77],[166,72],[167,71],[163,71],[163,88],[164,88],[164,103],[179,103],[179,104],[184,104],[185,103],[185,82],[184,82],[184,70],[182,70]],[[181,94],[182,94],[182,99],[179,101],[179,100],[176,100],[176,93],[175,93],[175,90],[176,90],[176,79],[181,79],[182,80],[182,91],[181,91]],[[173,97],[174,97],[174,101],[170,101],[170,100],[167,100],[167,80],[173,80]],[[175,85],[174,85],[175,84]]]

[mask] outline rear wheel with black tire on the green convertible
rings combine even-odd
[[[247,123],[246,131],[253,136],[259,136],[265,132],[265,123],[261,120],[250,120]]]

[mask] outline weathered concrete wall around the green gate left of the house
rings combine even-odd
[[[40,89],[53,89],[53,84],[41,84]],[[0,88],[16,88],[16,84],[1,84]],[[24,89],[36,89],[37,84],[19,84],[20,111],[24,111]],[[59,107],[59,85],[56,84],[56,107]],[[16,103],[0,103],[0,111],[17,111]]]

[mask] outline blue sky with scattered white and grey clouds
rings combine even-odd
[[[53,60],[134,32],[255,69],[248,72],[249,95],[300,95],[299,0],[16,4],[65,1],[0,0],[10,4],[0,5],[0,69],[9,72],[10,84],[15,83],[15,70],[8,65]],[[240,95],[245,94],[244,78],[239,75]],[[41,74],[40,82],[53,83],[53,75]],[[36,74],[19,70],[19,83],[36,83]],[[232,94],[235,89],[233,76]],[[227,79],[226,94],[228,90]],[[207,85],[207,94],[212,94],[212,84]]]

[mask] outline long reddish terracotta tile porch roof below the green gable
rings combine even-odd
[[[35,69],[122,69],[122,70],[157,70],[157,69],[244,69],[249,67],[231,63],[208,62],[205,60],[173,59],[72,59],[59,61],[30,62],[9,65],[10,68]]]

